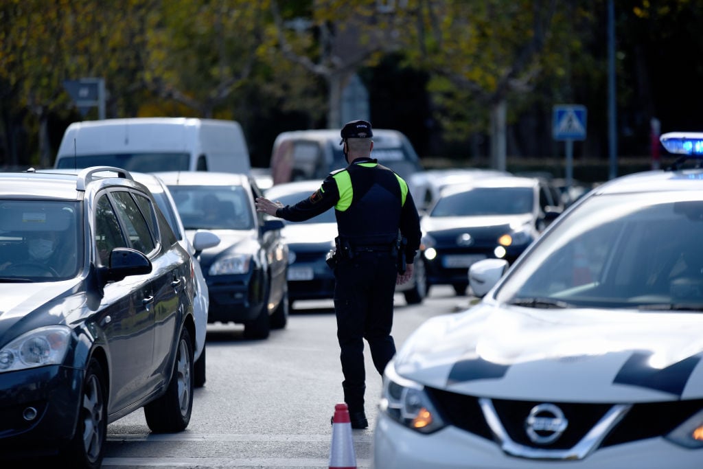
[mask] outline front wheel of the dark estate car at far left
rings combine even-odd
[[[98,360],[91,358],[83,380],[78,427],[61,455],[66,467],[101,467],[105,455],[105,437],[108,433],[105,391],[103,367]]]

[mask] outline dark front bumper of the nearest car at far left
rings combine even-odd
[[[0,454],[51,453],[70,440],[83,374],[65,366],[0,373]]]

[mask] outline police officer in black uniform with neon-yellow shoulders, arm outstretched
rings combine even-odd
[[[413,274],[420,220],[406,181],[371,158],[371,124],[348,122],[341,135],[346,168],[330,173],[316,192],[295,205],[257,198],[256,206],[258,212],[289,221],[307,220],[335,207],[339,236],[334,300],[342,389],[352,428],[367,428],[363,339],[382,374],[396,352],[391,335],[395,285]]]

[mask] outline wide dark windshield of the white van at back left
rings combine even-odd
[[[134,172],[188,171],[188,153],[109,153],[60,158],[59,168],[112,166]]]

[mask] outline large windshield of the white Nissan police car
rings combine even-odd
[[[701,311],[703,191],[602,195],[566,214],[515,266],[501,302]]]

